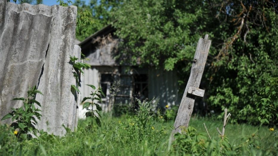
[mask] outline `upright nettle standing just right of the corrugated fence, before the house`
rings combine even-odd
[[[86,84],[87,86],[91,87],[93,90],[91,91],[91,97],[84,97],[83,100],[81,101],[81,103],[85,102],[86,100],[91,100],[91,102],[85,102],[83,104],[83,109],[87,109],[88,112],[86,112],[86,117],[91,117],[93,119],[96,120],[96,123],[98,126],[101,126],[100,123],[100,117],[101,117],[101,111],[102,108],[99,104],[95,103],[94,101],[99,101],[102,102],[101,100],[101,95],[105,96],[101,87],[98,87],[98,89],[96,89],[96,87],[94,85],[91,84]],[[89,109],[89,106],[91,106],[91,109]],[[94,106],[96,106],[96,109],[94,110]],[[96,115],[97,113],[97,115]]]

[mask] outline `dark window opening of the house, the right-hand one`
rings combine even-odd
[[[148,98],[148,76],[147,74],[134,75],[134,95],[136,98],[145,100]]]

